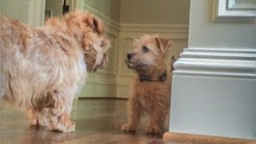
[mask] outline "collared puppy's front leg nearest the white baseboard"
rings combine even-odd
[[[165,122],[167,112],[160,108],[153,110],[150,114],[150,125],[146,131],[148,134],[162,133],[162,125]]]

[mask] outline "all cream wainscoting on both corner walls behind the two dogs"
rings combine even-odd
[[[106,33],[111,41],[108,66],[103,70],[98,70],[95,74],[89,74],[80,97],[92,97],[94,95],[100,95],[99,97],[129,97],[130,78],[134,77],[135,74],[127,68],[125,58],[127,52],[133,49],[134,38],[139,38],[143,34],[158,34],[160,37],[172,39],[173,45],[168,50],[167,61],[172,55],[179,58],[183,48],[187,47],[187,25],[119,24],[81,0],[78,0],[78,8],[87,10],[101,18],[106,25]],[[101,86],[103,91],[96,93],[95,90],[100,89]],[[116,90],[115,94],[114,90]]]

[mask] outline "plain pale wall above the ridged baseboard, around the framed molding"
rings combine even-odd
[[[256,49],[255,23],[212,22],[213,0],[190,3],[189,47]]]

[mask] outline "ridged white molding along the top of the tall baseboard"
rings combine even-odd
[[[174,69],[174,75],[256,78],[256,50],[186,48]]]

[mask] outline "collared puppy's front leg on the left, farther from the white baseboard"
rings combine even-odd
[[[130,98],[129,101],[129,118],[128,122],[122,126],[123,131],[136,131],[140,118],[139,104],[136,97]]]

